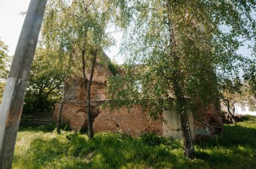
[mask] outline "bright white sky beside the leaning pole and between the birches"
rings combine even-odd
[[[30,0],[0,0],[0,38],[9,47],[9,55],[13,56],[22,30],[25,15],[20,13],[28,10]],[[111,31],[113,32],[113,31]],[[123,64],[123,59],[117,57],[119,44],[121,44],[121,32],[113,32],[116,46],[106,50],[108,57]]]

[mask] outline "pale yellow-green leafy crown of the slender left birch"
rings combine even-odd
[[[115,42],[106,32],[114,12],[111,7],[108,1],[49,1],[42,28],[43,44],[49,48],[57,44],[60,55],[72,54],[77,62],[71,67],[76,67],[76,75],[81,75],[82,62],[87,71],[94,52],[98,52],[97,62],[100,62],[105,59],[103,49]]]

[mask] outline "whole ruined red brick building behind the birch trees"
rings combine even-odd
[[[141,106],[133,105],[131,109],[122,107],[110,112],[110,109],[102,109],[100,105],[107,99],[105,94],[106,81],[113,73],[106,66],[96,65],[92,79],[91,99],[94,132],[123,131],[129,135],[138,136],[143,133],[156,133],[158,135],[170,135],[182,139],[181,117],[178,113],[163,110],[157,120],[150,119],[148,112]],[[87,127],[86,120],[86,90],[82,84],[82,78],[73,80],[67,87],[66,102],[63,105],[63,121],[69,123],[71,129],[80,131]],[[59,104],[55,107],[54,120],[56,121]],[[222,131],[222,119],[220,109],[214,105],[202,108],[198,112],[199,120],[189,117],[193,139],[207,137]],[[163,120],[164,119],[164,120]]]

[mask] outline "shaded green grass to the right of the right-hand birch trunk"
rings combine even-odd
[[[255,168],[256,129],[224,125],[223,135],[196,144],[195,158],[211,168]]]

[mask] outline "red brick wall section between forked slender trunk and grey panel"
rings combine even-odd
[[[156,133],[162,135],[162,119],[150,120],[148,112],[141,106],[134,105],[131,109],[121,108],[119,111],[100,109],[93,125],[94,131],[123,131],[129,135],[137,136],[143,133]]]

